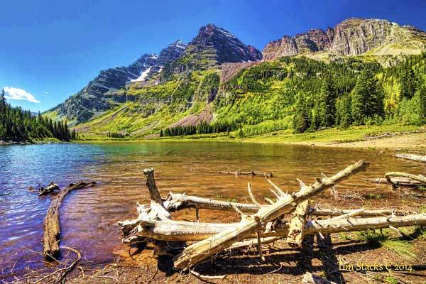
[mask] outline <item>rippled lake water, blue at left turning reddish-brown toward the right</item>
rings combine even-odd
[[[295,178],[312,182],[321,173],[335,173],[356,160],[371,162],[365,173],[342,184],[363,190],[366,178],[386,171],[416,172],[416,163],[376,151],[277,144],[150,142],[0,146],[0,263],[15,262],[29,249],[41,251],[43,218],[50,197],[28,192],[51,180],[61,187],[77,180],[94,180],[96,187],[77,190],[61,207],[61,244],[84,251],[99,263],[113,258],[120,244],[116,222],[136,216],[135,204],[148,194],[142,170],[155,168],[163,196],[172,190],[201,197],[236,197],[246,202],[246,182],[265,195],[263,178],[215,175],[219,170],[273,172],[284,190],[297,188]],[[419,167],[420,168],[420,167]],[[419,171],[419,170],[417,170]]]

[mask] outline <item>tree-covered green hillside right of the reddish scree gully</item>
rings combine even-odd
[[[388,68],[357,58],[262,62],[220,86],[213,127],[186,126],[161,134],[238,129],[238,136],[252,136],[292,128],[302,133],[332,126],[424,124],[425,75],[426,53]]]

